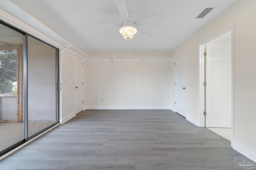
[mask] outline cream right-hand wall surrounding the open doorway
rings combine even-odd
[[[210,21],[172,53],[188,54],[188,115],[198,119],[198,46],[234,23],[234,149],[256,161],[256,1],[238,0],[234,5]],[[193,110],[195,108],[195,110]],[[199,120],[198,120],[199,121]],[[246,149],[249,151],[246,152]]]

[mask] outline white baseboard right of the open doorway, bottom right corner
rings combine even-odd
[[[256,162],[256,150],[250,149],[248,147],[245,147],[244,145],[240,144],[237,141],[233,142],[232,148],[244,156],[248,157],[252,161]]]

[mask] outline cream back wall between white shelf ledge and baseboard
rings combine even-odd
[[[169,109],[170,63],[86,61],[86,109]]]

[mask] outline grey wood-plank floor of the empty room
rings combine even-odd
[[[251,161],[170,110],[85,110],[0,160],[0,170],[234,170],[236,156]]]

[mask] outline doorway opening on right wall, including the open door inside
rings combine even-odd
[[[234,140],[233,27],[200,45],[202,126]]]

